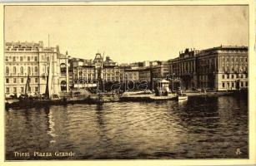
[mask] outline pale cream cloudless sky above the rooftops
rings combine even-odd
[[[73,57],[167,61],[185,48],[248,46],[248,6],[6,6],[5,41],[43,41]]]

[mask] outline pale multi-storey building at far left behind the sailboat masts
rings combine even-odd
[[[24,94],[29,78],[28,92],[43,94],[47,76],[51,71],[53,93],[61,90],[61,81],[67,82],[67,74],[61,73],[61,66],[68,71],[68,59],[59,53],[58,46],[44,47],[43,41],[5,43],[5,93]],[[50,63],[52,69],[50,70]],[[63,65],[65,64],[65,65]]]

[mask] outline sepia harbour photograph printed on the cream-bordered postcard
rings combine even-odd
[[[5,4],[4,160],[249,159],[249,5]]]

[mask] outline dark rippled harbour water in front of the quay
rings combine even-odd
[[[8,110],[6,159],[247,159],[247,102],[222,96]]]

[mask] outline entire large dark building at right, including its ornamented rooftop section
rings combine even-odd
[[[247,61],[247,46],[186,49],[169,61],[169,72],[179,78],[183,89],[238,90],[248,87]]]

